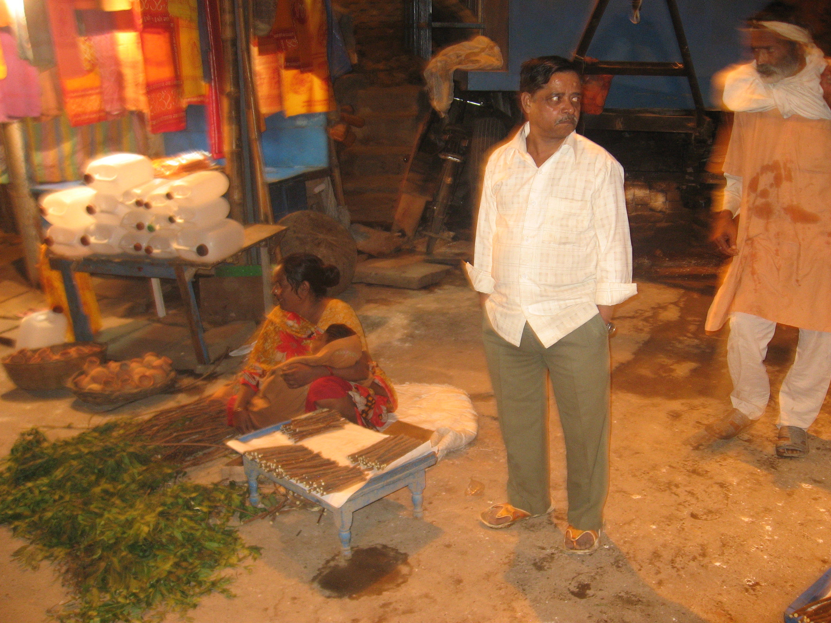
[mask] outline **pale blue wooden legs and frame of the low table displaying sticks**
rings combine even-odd
[[[255,430],[253,433],[243,435],[238,440],[246,442],[263,437],[264,435],[278,431],[283,424],[285,422],[268,426],[265,429]],[[273,483],[278,483],[281,487],[285,487],[294,493],[302,495],[303,498],[307,498],[313,503],[330,510],[338,526],[338,536],[341,539],[343,557],[350,558],[352,557],[352,547],[350,546],[352,542],[352,513],[364,508],[367,504],[385,498],[390,493],[398,491],[401,488],[409,487],[413,500],[413,517],[420,519],[424,515],[422,508],[424,496],[422,492],[425,488],[425,469],[429,468],[430,465],[435,465],[437,460],[435,453],[425,454],[425,456],[413,459],[409,463],[399,465],[389,472],[371,478],[363,487],[359,488],[355,493],[352,493],[352,497],[340,508],[333,507],[332,504],[318,498],[317,495],[308,492],[297,483],[278,478],[273,473],[267,472],[256,461],[248,459],[245,455],[243,455],[243,468],[245,468],[245,478],[248,479],[248,499],[254,507],[258,507],[260,503],[257,477],[263,475]]]

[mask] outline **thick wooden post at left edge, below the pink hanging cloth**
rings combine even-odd
[[[9,198],[20,232],[23,245],[23,257],[26,262],[26,274],[32,286],[40,281],[37,273],[37,261],[41,250],[41,215],[37,210],[29,179],[26,173],[26,156],[23,150],[23,131],[20,121],[4,123],[2,131],[3,151],[6,154],[8,171]]]

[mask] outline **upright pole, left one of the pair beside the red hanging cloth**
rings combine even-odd
[[[225,174],[228,175],[229,216],[245,223],[245,192],[243,190],[242,153],[239,147],[239,71],[237,71],[237,28],[234,22],[234,0],[219,0],[219,22],[222,32],[224,105]]]

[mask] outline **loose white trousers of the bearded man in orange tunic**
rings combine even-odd
[[[765,370],[768,343],[776,323],[742,312],[730,315],[727,364],[733,380],[730,400],[750,419],[759,419],[770,399],[770,379]],[[799,329],[794,365],[779,390],[778,426],[814,424],[831,382],[831,333]]]

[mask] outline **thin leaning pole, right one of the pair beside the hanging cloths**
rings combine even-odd
[[[257,99],[257,83],[254,78],[253,62],[251,60],[251,32],[253,17],[251,15],[252,3],[247,0],[237,2],[237,21],[242,31],[240,37],[239,55],[243,61],[242,86],[245,94],[245,125],[248,131],[248,156],[250,158],[251,171],[253,174],[254,196],[257,200],[256,213],[262,223],[273,223],[274,213],[271,209],[271,197],[268,194],[268,182],[265,179],[263,169],[263,150],[260,145],[260,121],[262,117],[259,111]]]

